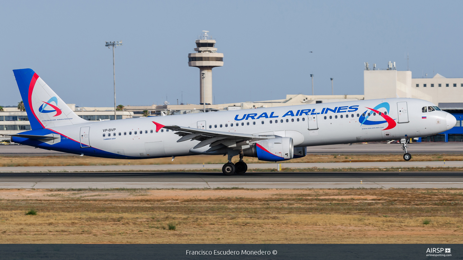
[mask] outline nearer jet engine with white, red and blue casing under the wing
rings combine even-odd
[[[257,157],[260,161],[286,161],[293,159],[294,145],[291,137],[261,140],[243,150],[244,156]]]

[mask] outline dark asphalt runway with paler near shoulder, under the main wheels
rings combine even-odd
[[[463,188],[463,173],[3,173],[0,188]]]

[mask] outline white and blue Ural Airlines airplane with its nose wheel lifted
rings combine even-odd
[[[32,69],[13,70],[31,123],[13,142],[116,159],[228,155],[225,175],[243,174],[243,156],[303,157],[307,146],[400,139],[451,129],[456,118],[421,99],[394,98],[89,122],[78,117]],[[232,157],[239,161],[232,163]]]

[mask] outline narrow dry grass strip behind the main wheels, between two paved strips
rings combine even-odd
[[[2,156],[0,167],[12,166],[89,166],[89,165],[153,165],[153,164],[221,164],[227,160],[222,155],[193,155],[144,160],[106,159],[89,156]],[[411,161],[463,161],[463,154],[456,155],[413,155]],[[235,156],[234,162],[238,161]],[[247,163],[269,163],[257,158],[244,157]],[[402,155],[307,155],[288,162],[369,162],[369,161],[403,161]]]

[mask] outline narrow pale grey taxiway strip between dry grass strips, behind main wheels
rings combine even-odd
[[[391,168],[391,167],[463,167],[463,161],[384,161],[384,162],[314,162],[281,163],[282,168]],[[182,171],[222,169],[223,164],[150,164],[150,165],[94,165],[94,166],[18,166],[0,167],[0,173],[84,173],[129,171]],[[248,169],[276,169],[278,163],[249,163]]]

